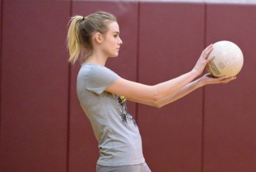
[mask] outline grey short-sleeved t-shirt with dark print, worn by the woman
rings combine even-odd
[[[142,139],[134,117],[126,109],[126,98],[105,91],[119,78],[107,67],[83,63],[77,76],[77,95],[99,142],[102,166],[124,166],[145,162]]]

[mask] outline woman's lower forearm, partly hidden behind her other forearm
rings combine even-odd
[[[180,99],[181,97],[184,97],[184,96],[190,94],[192,91],[200,88],[201,86],[204,86],[204,83],[201,81],[201,78],[198,78],[197,80],[188,83],[186,86],[184,86],[180,90],[176,91],[176,93],[170,94],[167,97],[163,97],[160,101],[157,101],[156,106],[162,107],[164,105],[167,105],[173,101]]]

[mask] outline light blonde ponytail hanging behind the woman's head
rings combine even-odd
[[[68,52],[69,58],[68,62],[75,63],[76,60],[79,58],[80,52],[83,49],[82,41],[80,40],[80,23],[83,21],[82,16],[75,16],[72,17],[69,21],[68,25]]]

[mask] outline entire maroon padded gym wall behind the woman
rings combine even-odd
[[[123,41],[107,67],[153,85],[192,69],[202,50],[231,40],[244,55],[234,82],[156,109],[129,102],[153,172],[256,169],[256,6],[188,2],[0,0],[1,172],[92,172],[99,156],[68,64],[69,17],[114,13]]]

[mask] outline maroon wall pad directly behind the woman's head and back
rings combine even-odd
[[[120,37],[123,44],[118,57],[108,59],[107,67],[122,78],[136,81],[137,73],[137,2],[72,2],[72,15],[86,16],[98,10],[105,10],[118,18]],[[76,75],[80,64],[72,66],[71,120],[70,120],[70,168],[71,172],[95,171],[99,158],[98,143],[92,132],[91,124],[80,108],[76,96]],[[129,103],[128,109],[134,117],[135,104]]]

